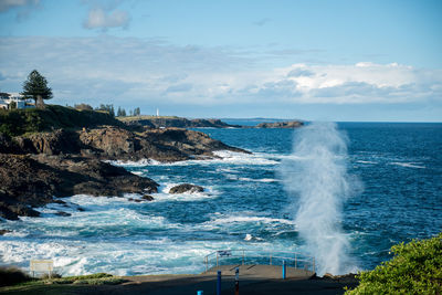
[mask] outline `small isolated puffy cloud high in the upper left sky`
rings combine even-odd
[[[87,19],[84,21],[83,27],[86,29],[102,29],[122,27],[127,29],[130,22],[130,17],[127,11],[114,10],[106,11],[103,8],[93,8],[90,10]]]

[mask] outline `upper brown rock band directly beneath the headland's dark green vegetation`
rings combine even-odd
[[[0,135],[0,151],[15,155],[81,155],[102,160],[179,161],[214,157],[215,150],[246,150],[228,146],[199,131],[165,128],[134,133],[117,126],[54,130],[9,138]]]

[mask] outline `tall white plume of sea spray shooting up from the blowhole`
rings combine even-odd
[[[313,123],[294,136],[292,157],[282,164],[299,236],[319,274],[356,270],[341,228],[344,201],[360,186],[347,173],[347,138],[334,123]]]

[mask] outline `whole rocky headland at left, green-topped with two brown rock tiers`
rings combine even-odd
[[[214,158],[215,150],[249,152],[199,131],[131,128],[105,113],[61,106],[1,110],[0,217],[38,217],[32,208],[57,201],[53,197],[157,191],[154,180],[104,160],[172,162]]]

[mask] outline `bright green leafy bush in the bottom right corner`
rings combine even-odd
[[[358,275],[346,294],[442,294],[442,233],[391,247],[393,259]]]

